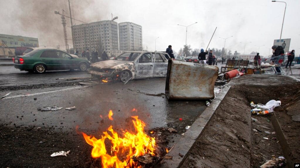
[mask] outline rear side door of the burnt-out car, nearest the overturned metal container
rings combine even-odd
[[[168,60],[163,54],[152,53],[154,55],[153,77],[166,77]]]

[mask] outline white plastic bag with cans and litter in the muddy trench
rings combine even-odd
[[[250,102],[251,106],[251,113],[252,114],[269,114],[274,112],[274,108],[281,105],[281,101],[279,100],[270,100],[265,105],[263,104],[254,104],[253,102]]]

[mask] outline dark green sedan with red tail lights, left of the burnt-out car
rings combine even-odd
[[[13,58],[14,67],[21,71],[36,72],[39,74],[52,70],[86,71],[90,62],[86,59],[72,57],[64,51],[55,49],[33,50],[23,56]]]

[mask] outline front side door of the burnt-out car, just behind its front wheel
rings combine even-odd
[[[134,66],[136,70],[134,78],[153,77],[153,58],[150,52],[140,54]]]

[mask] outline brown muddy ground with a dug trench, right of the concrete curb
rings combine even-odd
[[[276,79],[274,75],[260,77],[263,78],[247,76],[233,80],[234,84],[196,141],[183,168],[259,167],[271,158],[283,156],[277,133],[265,133],[274,132],[270,122],[274,114],[250,113],[250,101],[266,103],[272,99],[282,103],[274,109],[274,113],[289,144],[293,162],[300,162],[300,122],[292,120],[299,115],[296,109],[299,109],[300,103],[300,83],[281,76]],[[258,122],[251,121],[251,117]]]

